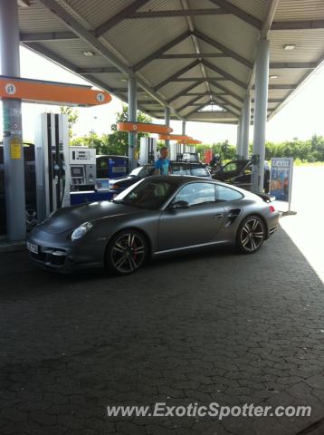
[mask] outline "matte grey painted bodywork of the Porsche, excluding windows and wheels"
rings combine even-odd
[[[271,213],[269,204],[251,192],[219,181],[191,176],[155,176],[152,179],[169,177],[176,179],[176,191],[158,210],[129,207],[109,201],[58,210],[52,218],[33,229],[29,241],[43,249],[64,249],[67,251],[67,260],[64,266],[44,265],[34,258],[33,261],[40,266],[58,270],[104,266],[105,251],[110,238],[126,228],[136,228],[144,233],[151,255],[157,256],[196,247],[233,245],[240,223],[249,215],[262,217],[267,227],[267,237],[269,229],[278,225],[279,213]],[[168,208],[178,190],[191,182],[227,186],[241,192],[243,198],[194,208]],[[232,223],[231,211],[237,215]],[[72,231],[84,222],[91,222],[92,229],[84,237],[72,242]]]

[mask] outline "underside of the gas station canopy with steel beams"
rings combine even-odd
[[[21,43],[154,118],[238,122],[270,41],[268,119],[324,58],[322,0],[19,0]],[[208,110],[216,107],[215,110]]]

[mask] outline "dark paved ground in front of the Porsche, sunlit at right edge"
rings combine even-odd
[[[254,256],[169,258],[122,278],[52,275],[24,252],[2,254],[0,433],[322,434],[324,286],[300,252],[308,244],[291,239],[313,236],[302,215],[281,219]],[[156,401],[313,410],[222,421],[106,414]]]

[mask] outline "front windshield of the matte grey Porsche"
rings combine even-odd
[[[143,179],[121,192],[113,202],[157,210],[170,198],[177,187],[178,184],[174,180]]]

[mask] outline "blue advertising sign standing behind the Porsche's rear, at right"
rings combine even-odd
[[[272,159],[271,195],[278,201],[291,203],[292,158]]]

